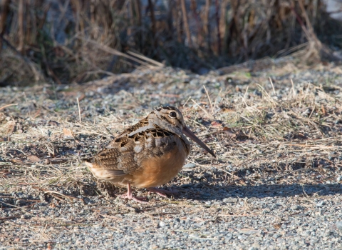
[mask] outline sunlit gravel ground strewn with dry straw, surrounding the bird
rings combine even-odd
[[[0,110],[0,249],[342,249],[342,71],[275,64],[0,89],[17,104]],[[160,104],[184,104],[218,160],[194,146],[178,194],[120,199],[80,159]]]

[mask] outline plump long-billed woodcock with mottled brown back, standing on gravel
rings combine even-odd
[[[190,142],[185,135],[216,158],[187,128],[182,113],[173,106],[165,106],[125,129],[105,149],[87,159],[86,165],[97,179],[127,185],[123,198],[145,202],[146,198],[132,195],[131,186],[165,196],[170,191],[156,187],[171,181],[182,169],[190,154]]]

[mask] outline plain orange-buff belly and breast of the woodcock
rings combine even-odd
[[[162,156],[146,159],[133,174],[132,186],[148,188],[166,184],[180,172],[188,153],[183,144],[178,144],[175,149]]]

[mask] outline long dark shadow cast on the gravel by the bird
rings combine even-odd
[[[264,198],[342,194],[342,184],[261,184],[237,186],[202,182],[183,184],[181,186],[172,185],[171,189],[179,191],[175,194],[175,198],[205,201],[213,199],[224,200],[229,197]]]

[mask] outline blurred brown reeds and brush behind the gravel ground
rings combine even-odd
[[[341,22],[320,0],[2,0],[0,8],[0,86],[163,64],[205,74],[303,49],[312,64],[342,48]]]

